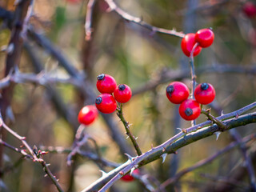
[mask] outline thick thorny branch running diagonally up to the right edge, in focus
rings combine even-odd
[[[238,117],[238,115],[254,109],[255,106],[256,102],[248,106],[245,106],[240,110],[236,110],[230,114],[223,114],[222,116],[218,117],[218,120],[228,119],[224,121],[227,125],[226,130],[229,130],[237,126],[244,126],[246,124],[256,122],[255,112]],[[86,192],[98,190],[108,181],[106,185],[103,186],[101,190],[99,190],[106,191],[110,186],[114,184],[114,182],[116,182],[119,178],[122,177],[121,174],[114,173],[119,173],[122,170],[122,174],[126,174],[128,171],[130,171],[136,166],[146,165],[147,163],[160,158],[162,154],[174,153],[182,146],[186,146],[191,142],[195,142],[198,141],[199,139],[209,137],[210,135],[214,134],[214,132],[220,130],[220,128],[216,124],[209,126],[210,123],[210,121],[206,121],[198,124],[197,126],[192,126],[186,129],[186,133],[182,131],[179,134],[174,135],[174,137],[162,143],[160,146],[154,147],[151,150],[147,151],[146,153],[136,158],[133,158],[132,162],[130,162],[129,160],[128,162],[122,164],[122,166],[119,166],[117,169],[110,171],[109,174],[105,174],[104,177],[98,179],[96,182],[92,183],[90,186],[88,186],[85,190],[82,191]]]

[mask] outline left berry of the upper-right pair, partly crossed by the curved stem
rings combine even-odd
[[[187,57],[190,57],[190,53],[195,45],[195,34],[186,34],[184,38],[182,38],[182,51],[186,54]],[[201,46],[197,46],[194,50],[193,56],[197,56],[202,50]]]

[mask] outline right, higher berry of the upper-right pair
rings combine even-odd
[[[214,32],[211,29],[198,30],[195,34],[195,41],[199,43],[199,46],[206,48],[214,42]]]

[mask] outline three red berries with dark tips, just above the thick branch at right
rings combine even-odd
[[[166,88],[166,96],[170,102],[181,104],[179,114],[187,121],[198,118],[201,114],[202,105],[207,105],[214,101],[215,90],[210,83],[201,83],[194,90],[194,98],[188,98],[189,88],[182,82],[171,82]]]

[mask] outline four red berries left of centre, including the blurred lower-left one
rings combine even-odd
[[[98,117],[98,110],[103,114],[113,113],[117,109],[117,102],[125,103],[131,98],[130,87],[125,84],[117,86],[115,79],[109,74],[99,74],[97,79],[96,86],[102,94],[96,98],[96,107],[84,106],[78,114],[78,122],[86,126]],[[112,94],[114,94],[114,97]]]

